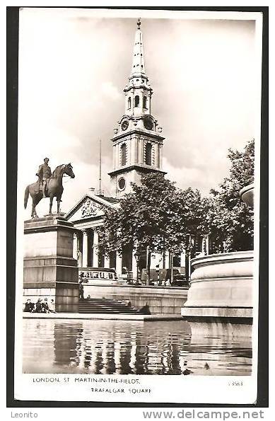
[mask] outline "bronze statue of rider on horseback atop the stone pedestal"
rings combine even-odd
[[[62,185],[63,175],[66,174],[69,175],[69,177],[74,178],[71,163],[59,165],[55,168],[53,173],[51,168],[49,168],[48,163],[49,158],[45,158],[44,163],[39,166],[36,173],[38,177],[37,182],[28,185],[25,189],[24,207],[27,207],[29,194],[33,199],[32,218],[38,217],[35,207],[41,199],[46,197],[49,197],[49,215],[52,215],[52,200],[54,197],[57,197],[57,214],[59,214],[60,202],[62,202],[61,197],[64,190]]]

